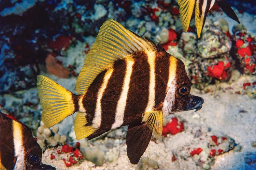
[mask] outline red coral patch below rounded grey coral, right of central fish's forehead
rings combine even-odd
[[[223,62],[218,62],[218,65],[214,65],[213,68],[211,66],[207,67],[208,75],[210,77],[217,78],[219,80],[224,80],[227,78],[228,73],[225,71],[225,68],[230,67],[230,63],[224,66]]]

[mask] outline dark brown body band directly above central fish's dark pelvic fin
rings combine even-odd
[[[123,125],[128,125],[131,122],[140,123],[142,121],[141,114],[145,111],[148,102],[150,66],[147,62],[147,55],[143,51],[135,52],[133,53],[133,59],[133,71],[131,74]]]

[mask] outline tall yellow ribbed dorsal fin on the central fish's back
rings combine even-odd
[[[96,41],[86,55],[76,83],[77,93],[85,94],[97,75],[116,60],[146,50],[156,50],[155,44],[125,29],[113,19],[108,19],[100,27]]]

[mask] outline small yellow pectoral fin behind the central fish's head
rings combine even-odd
[[[151,130],[152,135],[160,138],[163,129],[163,112],[162,110],[151,110],[142,114],[142,122],[146,122],[147,127]]]

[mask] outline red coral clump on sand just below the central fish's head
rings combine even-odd
[[[172,121],[163,126],[162,134],[166,137],[167,133],[175,135],[184,129],[182,121],[178,122],[177,118],[172,118]]]

